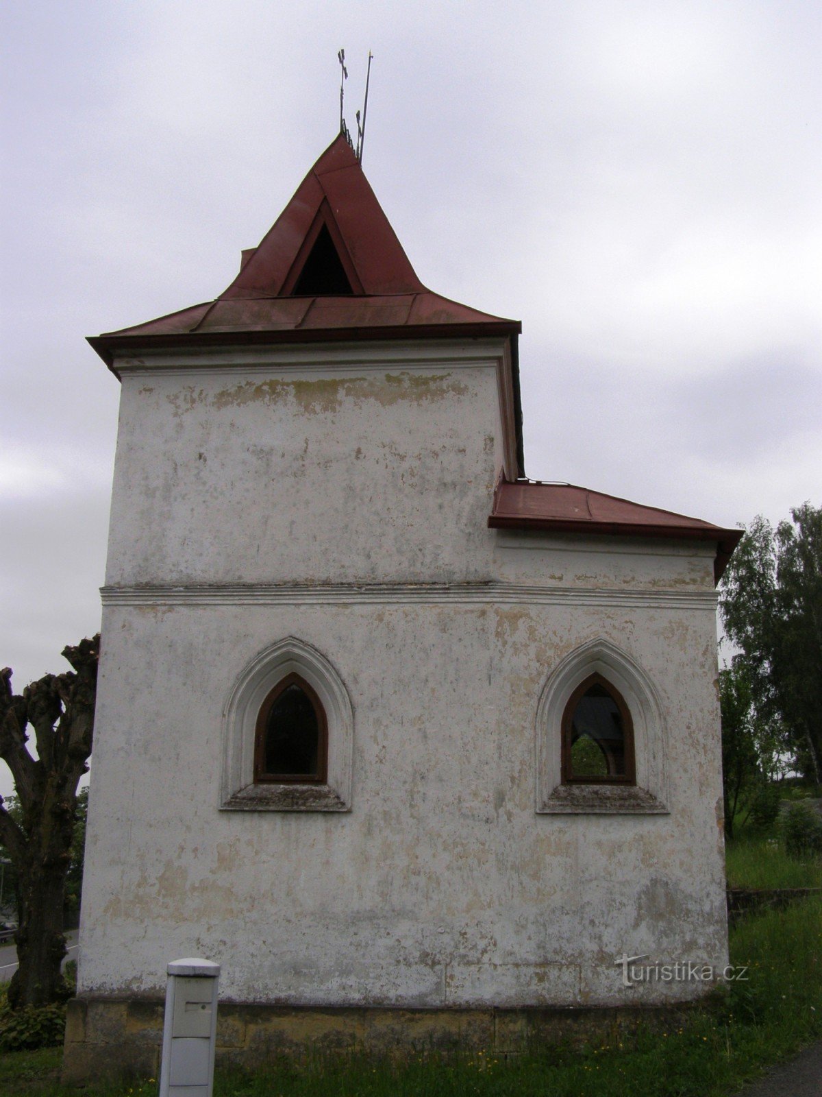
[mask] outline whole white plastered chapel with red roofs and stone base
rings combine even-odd
[[[219,296],[89,340],[121,410],[69,1076],[156,1068],[178,957],[248,1064],[515,1050],[711,988],[620,957],[727,963],[740,533],[526,478],[520,333],[423,285],[340,136]]]

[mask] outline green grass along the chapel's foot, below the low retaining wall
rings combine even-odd
[[[640,1028],[610,1047],[546,1048],[510,1060],[464,1055],[392,1066],[350,1059],[218,1072],[216,1097],[720,1097],[801,1045],[822,1038],[822,898],[744,919],[731,962],[749,980],[666,1033]],[[60,1051],[0,1059],[3,1097],[77,1097],[60,1086]],[[84,1097],[149,1097],[156,1083],[90,1086]]]

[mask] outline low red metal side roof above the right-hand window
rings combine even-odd
[[[574,484],[501,480],[488,519],[492,529],[552,530],[558,533],[612,534],[712,541],[717,545],[713,578],[718,583],[742,530],[727,530],[699,518],[643,507]]]

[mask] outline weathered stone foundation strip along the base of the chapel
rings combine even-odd
[[[254,1070],[308,1054],[403,1058],[491,1052],[513,1055],[546,1044],[609,1042],[640,1022],[681,1022],[693,1004],[616,1008],[319,1008],[220,1003],[217,1066]],[[163,1002],[104,997],[68,1004],[62,1081],[157,1078]]]

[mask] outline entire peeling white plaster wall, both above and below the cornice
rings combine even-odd
[[[307,371],[329,383],[313,389],[294,374],[125,377],[81,993],[159,993],[168,960],[192,954],[222,964],[237,1000],[703,992],[626,989],[614,959],[726,962],[710,553],[545,535],[516,547],[486,528],[492,365],[362,376]],[[262,395],[247,399],[252,383]],[[323,595],[357,580],[376,586]],[[432,580],[444,586],[419,586]],[[349,691],[353,808],[220,812],[226,701],[288,635]],[[659,692],[667,815],[535,812],[543,686],[597,637]]]

